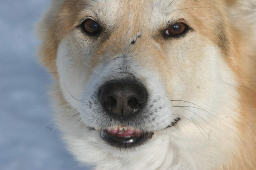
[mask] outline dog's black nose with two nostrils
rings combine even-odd
[[[108,114],[128,119],[147,102],[147,91],[138,82],[109,82],[100,89],[100,101]]]

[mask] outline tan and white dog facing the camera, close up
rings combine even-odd
[[[52,0],[37,30],[82,165],[256,169],[255,0]]]

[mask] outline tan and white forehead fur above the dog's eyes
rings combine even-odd
[[[109,28],[157,30],[166,23],[185,19],[191,24],[216,19],[216,4],[209,0],[85,0],[81,4],[81,17],[92,15]],[[77,2],[79,4],[79,2]],[[207,16],[205,16],[207,14]],[[209,17],[209,18],[208,18]],[[194,22],[194,23],[193,23]],[[209,24],[206,24],[209,25]]]

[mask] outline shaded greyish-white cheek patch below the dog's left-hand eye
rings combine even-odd
[[[56,59],[62,94],[76,109],[79,108],[81,96],[91,74],[84,64],[86,54],[83,54],[80,46],[73,33],[70,33],[60,42]]]

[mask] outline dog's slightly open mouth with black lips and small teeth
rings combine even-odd
[[[166,128],[175,126],[178,121],[180,121],[180,118],[174,119],[173,122],[171,122],[171,124]],[[147,132],[127,126],[112,126],[104,129],[90,129],[99,131],[102,140],[117,148],[138,147],[147,142],[147,140],[150,140],[154,135],[154,131]]]

